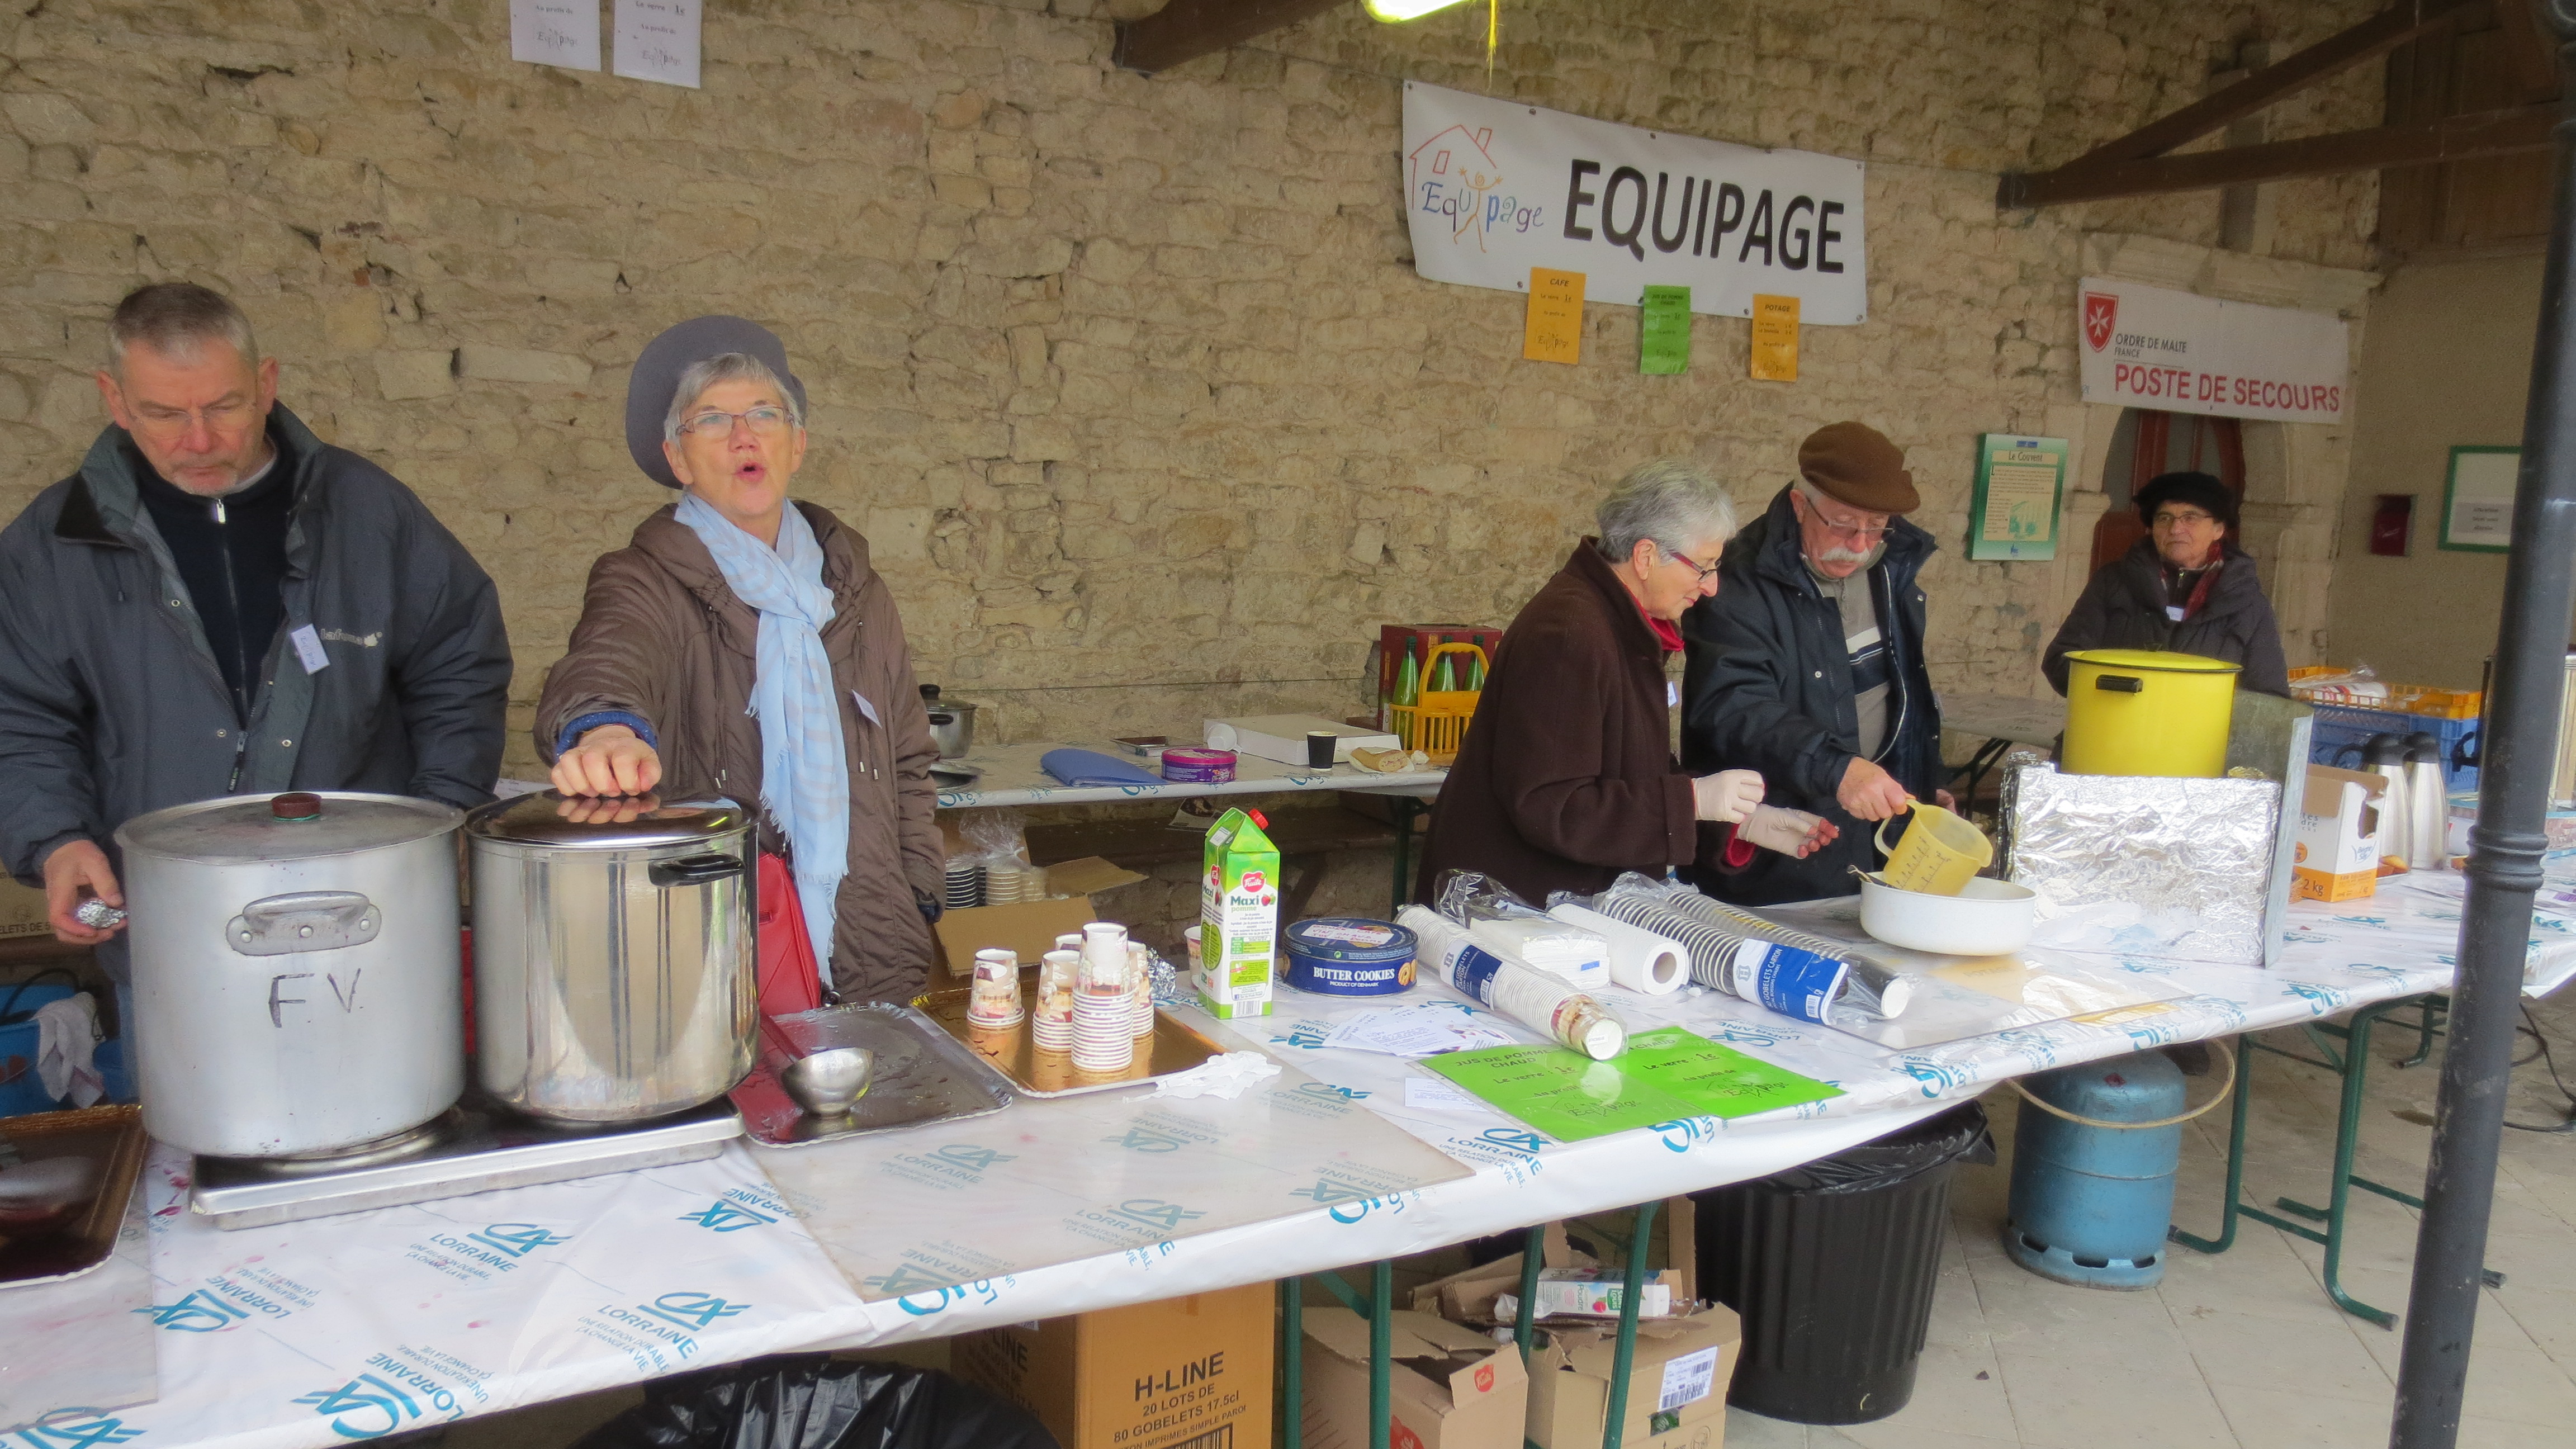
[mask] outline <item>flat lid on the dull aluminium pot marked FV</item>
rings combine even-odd
[[[232,794],[137,815],[116,828],[126,853],[209,866],[309,861],[410,846],[456,830],[464,810],[407,794]]]

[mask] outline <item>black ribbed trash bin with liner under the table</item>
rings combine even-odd
[[[1868,1423],[1914,1397],[1963,1160],[1994,1163],[1973,1101],[1803,1168],[1690,1194],[1703,1292],[1744,1318],[1726,1403],[1790,1423]]]

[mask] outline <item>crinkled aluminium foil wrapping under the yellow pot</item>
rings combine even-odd
[[[2004,879],[2056,910],[2136,908],[2099,946],[2259,967],[2280,784],[2267,779],[2004,776]]]

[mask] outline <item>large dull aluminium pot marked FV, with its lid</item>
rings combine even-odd
[[[126,820],[144,1127],[191,1152],[296,1158],[453,1106],[461,820],[307,792]]]

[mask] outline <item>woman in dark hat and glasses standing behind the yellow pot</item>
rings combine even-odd
[[[2040,673],[2066,694],[2074,650],[2174,650],[2244,665],[2239,688],[2290,696],[2280,624],[2254,559],[2236,547],[2236,495],[2205,472],[2166,472],[2138,490],[2148,534],[2094,570]]]

